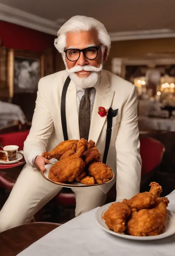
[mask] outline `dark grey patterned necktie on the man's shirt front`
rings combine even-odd
[[[89,129],[90,129],[90,99],[89,93],[92,90],[91,88],[86,88],[85,93],[80,100],[79,107],[79,131],[80,138],[88,140]]]

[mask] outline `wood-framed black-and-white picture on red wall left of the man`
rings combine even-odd
[[[36,93],[38,82],[45,74],[52,73],[50,55],[26,50],[8,50],[7,85],[10,98],[16,93]],[[50,63],[50,66],[48,66]]]

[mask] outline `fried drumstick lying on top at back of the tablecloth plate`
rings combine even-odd
[[[151,182],[150,186],[150,192],[139,193],[129,200],[124,199],[123,204],[126,204],[130,209],[136,209],[137,211],[154,205],[162,192],[162,187],[157,182]]]

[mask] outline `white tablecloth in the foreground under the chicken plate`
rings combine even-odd
[[[168,196],[175,212],[175,191]],[[174,256],[175,235],[152,241],[119,238],[97,226],[97,208],[54,229],[19,256]]]

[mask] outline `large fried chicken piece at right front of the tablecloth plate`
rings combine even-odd
[[[133,212],[127,223],[127,231],[132,236],[156,236],[162,232],[167,217],[167,197],[158,198],[155,208]]]

